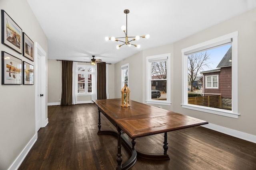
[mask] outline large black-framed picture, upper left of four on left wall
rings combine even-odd
[[[10,47],[11,49],[22,53],[22,29],[1,10],[2,16],[2,44]]]

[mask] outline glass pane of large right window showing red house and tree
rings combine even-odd
[[[227,44],[187,55],[188,104],[232,109],[231,48]]]

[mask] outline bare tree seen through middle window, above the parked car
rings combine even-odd
[[[166,61],[151,63],[151,76],[157,76],[158,79],[166,79]]]

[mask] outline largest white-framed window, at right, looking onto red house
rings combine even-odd
[[[238,118],[238,32],[182,49],[182,107]]]

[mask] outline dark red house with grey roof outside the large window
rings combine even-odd
[[[231,47],[217,66],[217,69],[203,74],[203,96],[221,95],[222,106],[232,106],[232,61]]]

